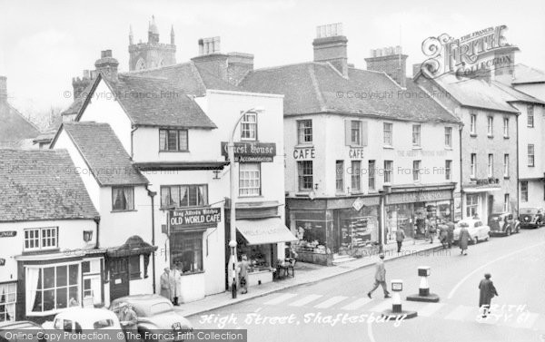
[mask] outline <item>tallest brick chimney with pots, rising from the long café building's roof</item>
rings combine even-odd
[[[329,62],[348,77],[348,39],[342,35],[342,24],[325,24],[316,27],[314,62]]]

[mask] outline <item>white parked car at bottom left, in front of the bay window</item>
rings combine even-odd
[[[66,308],[58,313],[53,321],[45,322],[42,327],[74,334],[81,334],[84,330],[96,331],[108,335],[108,340],[126,342],[125,338],[118,334],[123,331],[119,318],[106,308]],[[70,335],[63,335],[66,341],[78,339],[75,336],[71,338]]]

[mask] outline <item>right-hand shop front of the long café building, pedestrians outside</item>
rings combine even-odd
[[[426,220],[454,220],[453,190],[455,184],[422,187],[394,187],[385,194],[385,235],[395,241],[398,230],[409,239],[426,238]]]

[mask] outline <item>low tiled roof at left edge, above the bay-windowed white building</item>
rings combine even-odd
[[[98,216],[64,150],[0,150],[0,221]]]

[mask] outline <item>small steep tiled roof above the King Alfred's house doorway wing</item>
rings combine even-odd
[[[64,122],[62,127],[101,185],[148,183],[108,123]]]

